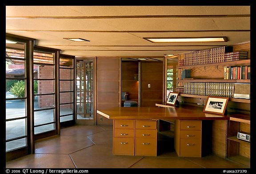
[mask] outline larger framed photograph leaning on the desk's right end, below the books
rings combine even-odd
[[[204,112],[224,115],[228,104],[228,97],[207,97]]]

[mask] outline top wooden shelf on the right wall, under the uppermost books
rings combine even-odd
[[[250,66],[251,60],[239,60],[239,61],[230,61],[230,62],[218,62],[218,63],[207,63],[207,64],[199,64],[199,65],[185,65],[185,66],[177,66],[178,68],[195,68],[202,66]]]

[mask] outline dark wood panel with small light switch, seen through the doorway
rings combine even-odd
[[[141,107],[155,107],[156,103],[162,103],[163,69],[163,62],[141,62]]]

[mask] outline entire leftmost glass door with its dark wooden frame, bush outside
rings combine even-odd
[[[32,125],[32,60],[34,40],[6,34],[5,151],[6,160],[34,151]]]

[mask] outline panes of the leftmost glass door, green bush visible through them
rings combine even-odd
[[[24,43],[6,43],[5,151],[27,147],[27,78]]]

